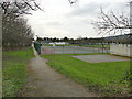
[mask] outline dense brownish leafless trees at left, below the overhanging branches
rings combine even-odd
[[[13,14],[2,21],[3,50],[14,50],[32,44],[33,32],[23,18],[13,19]]]

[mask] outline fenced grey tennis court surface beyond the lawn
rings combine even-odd
[[[42,54],[85,54],[85,53],[109,53],[108,48],[95,48],[84,46],[42,46]]]

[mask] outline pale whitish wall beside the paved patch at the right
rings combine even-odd
[[[132,57],[131,48],[132,44],[110,44],[110,53],[116,55]]]

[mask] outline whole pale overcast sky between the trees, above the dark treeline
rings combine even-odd
[[[32,12],[28,22],[35,35],[42,37],[97,37],[91,25],[98,20],[100,7],[116,14],[129,12],[128,0],[78,0],[70,6],[68,0],[40,0],[43,11]],[[100,35],[101,36],[101,35]]]

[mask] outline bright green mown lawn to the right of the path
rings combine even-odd
[[[74,54],[75,55],[75,54]],[[80,55],[80,54],[76,54]],[[88,55],[88,54],[87,54]],[[101,96],[125,96],[129,81],[121,81],[130,62],[87,63],[68,55],[42,55],[47,64]]]

